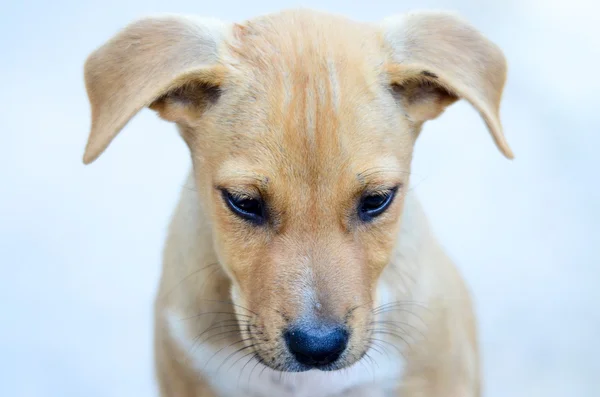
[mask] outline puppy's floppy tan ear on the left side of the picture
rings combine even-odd
[[[213,101],[222,83],[219,47],[227,26],[217,20],[164,16],[133,22],[85,63],[92,127],[83,162],[106,149],[148,106],[185,122]]]

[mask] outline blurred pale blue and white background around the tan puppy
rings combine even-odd
[[[155,395],[151,304],[188,153],[144,110],[84,167],[85,57],[142,15],[240,21],[297,5],[363,21],[455,10],[503,48],[516,159],[459,102],[426,125],[414,189],[476,298],[485,395],[600,396],[592,0],[2,2],[0,395]]]

